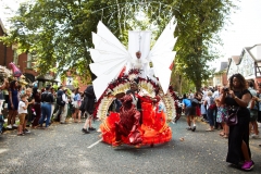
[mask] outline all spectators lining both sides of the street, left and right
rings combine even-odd
[[[182,112],[187,122],[186,129],[196,132],[196,119],[201,116],[201,121],[208,123],[206,132],[220,129],[219,135],[228,139],[226,161],[240,164],[245,171],[251,170],[254,164],[249,138],[260,136],[261,84],[257,87],[253,80],[246,80],[240,74],[235,74],[227,86],[203,87],[196,92],[190,90],[181,98]],[[53,122],[66,124],[67,116],[72,116],[74,123],[82,123],[82,117],[86,116],[82,132],[89,134],[96,130],[91,126],[94,104],[92,86],[79,92],[77,88],[71,91],[63,86],[55,89],[51,85],[42,89],[37,86],[24,88],[17,80],[9,83],[4,79],[0,86],[0,130],[2,132],[4,120],[1,111],[5,108],[8,120],[4,128],[17,128],[17,136],[28,134],[26,127],[46,129]],[[119,112],[120,108],[121,102],[116,98],[109,110]],[[232,114],[237,115],[235,125],[226,122]]]

